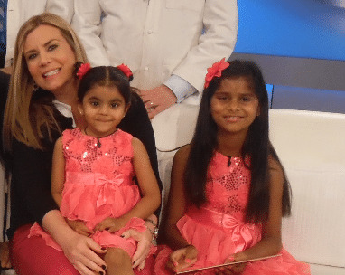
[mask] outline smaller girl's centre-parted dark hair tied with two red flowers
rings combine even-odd
[[[76,63],[76,72],[79,70],[80,64],[79,62]],[[79,82],[79,101],[81,102],[88,91],[97,85],[117,87],[117,90],[119,90],[120,94],[124,97],[125,103],[128,104],[131,102],[131,92],[134,91],[129,84],[131,80],[132,78],[128,78],[125,73],[117,67],[98,66],[91,68]]]

